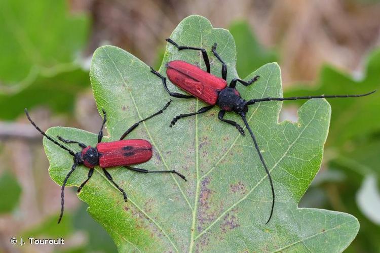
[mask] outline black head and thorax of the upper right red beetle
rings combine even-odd
[[[235,88],[227,87],[220,91],[217,105],[224,111],[234,111],[242,115],[248,111],[247,102]]]

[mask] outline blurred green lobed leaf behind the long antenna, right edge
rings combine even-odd
[[[368,58],[364,78],[357,80],[332,66],[324,66],[316,85],[304,83],[292,86],[284,92],[285,97],[321,94],[363,94],[380,88],[380,50],[374,51]],[[314,88],[316,87],[316,88]],[[331,115],[330,134],[326,147],[339,151],[355,149],[354,140],[368,138],[380,130],[380,91],[363,98],[328,99],[333,113]],[[287,101],[299,105],[305,100]]]

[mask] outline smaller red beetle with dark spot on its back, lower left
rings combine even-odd
[[[63,180],[62,184],[62,189],[61,189],[61,214],[59,215],[58,223],[61,221],[62,216],[63,216],[63,204],[64,204],[64,189],[66,182],[68,178],[70,177],[71,173],[75,170],[77,165],[84,165],[88,167],[89,173],[87,179],[81,184],[81,186],[78,188],[78,192],[82,190],[82,188],[85,186],[85,184],[89,181],[91,178],[92,174],[94,173],[94,167],[99,165],[102,170],[104,175],[107,177],[107,179],[115,185],[122,193],[124,200],[127,201],[127,194],[125,191],[117,184],[115,181],[113,181],[111,175],[105,170],[105,168],[109,167],[115,167],[115,166],[125,166],[129,170],[135,171],[135,172],[140,172],[140,173],[174,173],[177,174],[179,177],[181,177],[183,180],[187,181],[186,178],[172,170],[172,171],[148,171],[143,168],[135,168],[135,167],[130,167],[129,165],[131,164],[136,164],[136,163],[142,163],[150,160],[150,158],[153,155],[152,151],[152,146],[151,144],[146,141],[146,140],[141,140],[141,139],[131,139],[131,140],[123,140],[129,133],[131,133],[139,123],[142,121],[145,121],[149,118],[152,118],[160,113],[162,113],[172,102],[170,100],[163,109],[160,111],[156,112],[153,115],[150,115],[149,117],[146,117],[136,123],[134,123],[120,138],[119,141],[113,141],[113,142],[101,142],[103,138],[103,128],[104,124],[107,120],[107,114],[105,113],[104,110],[103,112],[103,123],[100,129],[100,132],[98,134],[98,144],[96,147],[91,147],[87,146],[81,142],[78,141],[69,141],[65,140],[60,136],[57,136],[58,140],[64,142],[64,143],[77,143],[81,148],[82,151],[79,151],[75,153],[71,149],[65,147],[61,143],[57,142],[54,140],[52,137],[48,136],[45,134],[44,131],[42,131],[34,122],[31,120],[29,113],[27,109],[25,109],[25,114],[28,117],[30,123],[46,138],[48,138],[50,141],[52,141],[54,144],[58,145],[62,149],[68,151],[74,158],[74,163],[72,164],[70,172],[67,174],[65,179]]]

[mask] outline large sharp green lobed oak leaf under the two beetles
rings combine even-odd
[[[220,75],[221,65],[211,54],[217,51],[236,77],[236,49],[229,31],[213,28],[200,16],[185,18],[171,38],[178,44],[204,47],[211,72]],[[168,45],[160,72],[168,61],[182,59],[204,68],[199,52],[178,52]],[[149,67],[122,49],[105,46],[96,50],[90,78],[100,111],[107,111],[109,136],[118,140],[134,122],[161,109],[171,99],[161,80]],[[250,87],[239,86],[244,98],[281,96],[281,74],[269,63],[246,79],[261,78]],[[171,84],[169,88],[177,90]],[[272,220],[268,178],[249,137],[217,118],[217,108],[179,120],[171,129],[171,118],[205,106],[199,100],[173,99],[160,116],[141,123],[127,138],[149,140],[153,158],[136,167],[148,170],[178,170],[175,175],[138,174],[123,167],[108,172],[123,187],[122,194],[105,178],[99,167],[79,198],[88,212],[111,235],[119,251],[329,251],[345,249],[355,238],[359,224],[351,215],[322,209],[297,208],[297,203],[319,170],[330,119],[325,100],[310,100],[299,110],[299,121],[279,123],[281,102],[251,106],[247,115],[261,152],[274,180],[276,204]],[[227,118],[241,120],[234,114]],[[83,130],[56,127],[52,136],[96,145],[97,135]],[[50,175],[62,184],[72,157],[44,139]],[[80,150],[72,144],[72,148]],[[87,168],[79,166],[67,185],[79,186]],[[56,204],[60,200],[55,200]],[[63,218],[64,219],[64,218]]]

